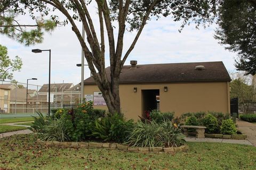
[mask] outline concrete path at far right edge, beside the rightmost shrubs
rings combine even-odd
[[[256,147],[256,124],[245,122],[242,120],[236,121],[238,130],[247,135],[247,140],[249,140],[252,145]]]

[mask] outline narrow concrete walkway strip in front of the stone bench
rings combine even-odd
[[[248,140],[234,140],[234,139],[215,139],[215,138],[194,138],[186,137],[187,142],[217,142],[217,143],[235,143],[241,145],[252,145]]]

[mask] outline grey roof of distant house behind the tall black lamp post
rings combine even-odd
[[[44,84],[38,92],[48,92],[49,84]],[[51,92],[61,92],[62,90],[68,90],[73,87],[73,83],[54,83],[51,84]]]

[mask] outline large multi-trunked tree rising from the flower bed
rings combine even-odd
[[[93,14],[89,12],[90,5],[91,0],[20,0],[13,6],[14,11],[29,10],[33,18],[35,11],[43,15],[51,13],[55,16],[54,10],[56,9],[67,17],[66,23],[71,24],[82,46],[94,81],[102,92],[111,113],[121,112],[119,99],[121,70],[147,22],[161,16],[172,15],[174,21],[183,21],[181,27],[189,22],[205,24],[213,22],[216,12],[215,1],[209,3],[204,0],[95,0],[97,9],[94,14],[98,15],[98,20],[93,20]],[[81,30],[78,29],[77,21],[83,23],[87,43],[82,37]],[[97,23],[99,30],[95,29]],[[116,37],[114,30],[117,32]],[[136,34],[132,44],[124,52],[124,33],[127,30],[135,31]],[[107,43],[105,32],[107,32]],[[108,46],[108,52],[105,52],[105,46]],[[107,75],[105,71],[105,56],[109,56],[110,75]]]

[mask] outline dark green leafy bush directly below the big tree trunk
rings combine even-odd
[[[92,123],[91,123],[92,125]],[[124,142],[133,127],[133,121],[125,121],[121,114],[108,114],[95,120],[91,126],[91,136],[103,141]]]

